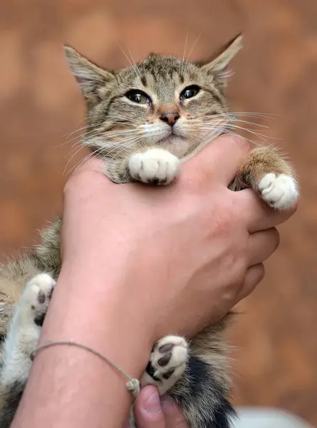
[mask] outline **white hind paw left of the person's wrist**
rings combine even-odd
[[[28,282],[17,307],[22,322],[43,323],[55,284],[48,273],[40,273]]]

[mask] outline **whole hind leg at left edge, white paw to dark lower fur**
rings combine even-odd
[[[26,285],[16,312],[9,325],[3,347],[0,374],[0,427],[9,427],[28,374],[31,370],[31,354],[38,345],[41,327],[55,281],[42,273]]]

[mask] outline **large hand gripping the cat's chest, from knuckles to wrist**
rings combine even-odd
[[[253,190],[228,189],[248,151],[242,138],[217,138],[182,165],[176,183],[156,188],[115,185],[100,160],[85,163],[64,192],[63,267],[88,281],[97,272],[100,293],[127,319],[146,320],[153,342],[191,337],[259,283],[279,245],[274,227],[293,213],[271,210]]]

